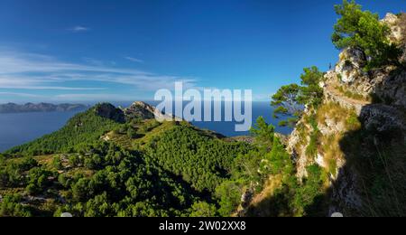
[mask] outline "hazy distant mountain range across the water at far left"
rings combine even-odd
[[[66,111],[78,111],[87,109],[88,106],[81,104],[49,104],[49,103],[26,103],[24,105],[18,105],[14,103],[0,104],[0,114],[5,113],[29,113],[29,112],[66,112]]]

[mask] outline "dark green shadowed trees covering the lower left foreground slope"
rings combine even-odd
[[[87,156],[78,160],[84,168],[76,172],[57,172],[53,164],[38,164],[31,157],[2,164],[0,186],[22,189],[18,196],[5,197],[1,215],[181,216],[200,199],[171,173],[145,163],[141,153],[108,143],[83,146],[79,152]],[[39,199],[29,201],[28,196]],[[43,200],[49,207],[36,206]],[[30,206],[20,208],[18,202],[24,201]]]

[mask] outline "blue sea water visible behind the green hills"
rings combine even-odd
[[[156,103],[150,102],[152,105]],[[129,106],[131,103],[115,105]],[[0,114],[0,152],[19,146],[38,137],[51,134],[63,127],[69,118],[78,112],[17,113]],[[253,125],[256,118],[263,116],[268,123],[277,126],[279,120],[272,118],[269,102],[253,103]],[[235,132],[235,122],[194,122],[195,126],[216,131],[224,136],[245,136],[249,132]],[[290,134],[291,128],[277,127],[282,134]]]

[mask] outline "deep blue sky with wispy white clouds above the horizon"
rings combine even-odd
[[[359,0],[381,16],[406,0]],[[156,89],[253,89],[337,61],[341,0],[2,0],[0,103],[132,101]]]

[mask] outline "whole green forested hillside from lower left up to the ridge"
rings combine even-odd
[[[110,112],[115,108],[101,106],[0,157],[1,216],[219,214],[224,195],[217,187],[231,178],[235,159],[253,146],[184,122],[122,123]],[[101,136],[107,133],[119,138],[106,142]],[[142,146],[121,146],[140,140]],[[241,192],[235,194],[239,199]]]

